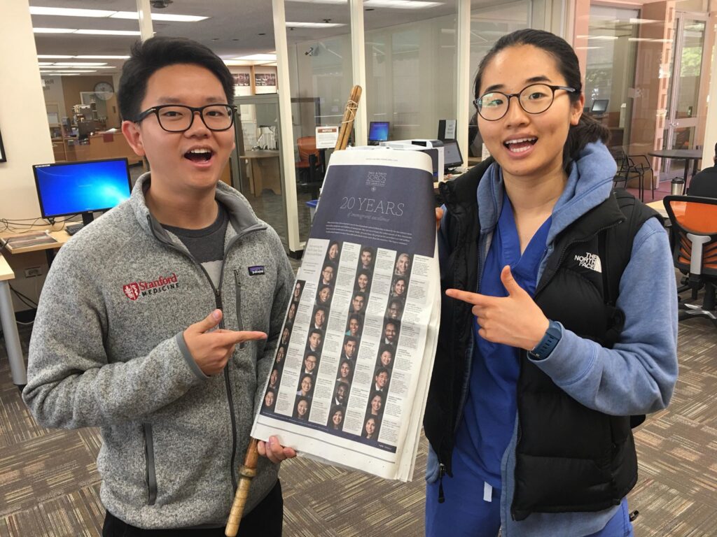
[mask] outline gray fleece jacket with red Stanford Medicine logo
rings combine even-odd
[[[143,175],[129,200],[58,253],[39,301],[23,398],[44,427],[101,427],[100,496],[113,515],[141,528],[224,526],[293,271],[276,232],[220,182],[216,198],[230,225],[214,289],[149,213],[149,180]],[[268,339],[237,345],[224,374],[206,377],[182,332],[217,307],[224,328]],[[260,458],[245,513],[277,470]]]

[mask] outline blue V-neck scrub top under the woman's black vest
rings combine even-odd
[[[535,295],[538,268],[546,251],[550,223],[549,217],[521,255],[513,206],[508,196],[503,195],[498,226],[483,265],[480,294],[508,296],[500,281],[500,271],[505,265],[510,265],[518,285],[531,296]],[[500,460],[511,441],[516,421],[519,349],[486,341],[478,335],[478,322],[475,320],[473,342],[470,386],[454,456],[461,458],[465,468],[475,473],[477,480],[500,489]],[[477,486],[475,492],[480,496],[483,488]]]

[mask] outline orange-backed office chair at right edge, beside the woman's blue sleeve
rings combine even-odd
[[[717,198],[668,195],[663,203],[675,233],[673,262],[687,275],[686,284],[678,288],[678,293],[690,289],[695,299],[697,291],[705,289],[701,306],[680,300],[679,319],[706,317],[717,327]]]

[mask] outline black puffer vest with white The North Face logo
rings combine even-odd
[[[442,192],[452,218],[452,251],[442,274],[442,289],[476,289],[475,188],[488,165],[480,168],[475,175],[461,178],[462,184],[447,185]],[[472,197],[466,197],[470,190]],[[656,214],[632,195],[617,193],[561,233],[536,287],[536,303],[543,313],[580,337],[612,347],[625,320],[614,307],[619,277],[630,260],[635,233]],[[473,318],[470,306],[463,303],[449,299],[442,307],[446,310],[442,309],[424,426],[450,475],[455,429],[462,412],[459,399],[472,358],[467,348]],[[533,512],[601,511],[617,505],[637,481],[630,417],[584,407],[521,352],[515,478],[511,513],[516,520]]]

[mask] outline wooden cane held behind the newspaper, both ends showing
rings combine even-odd
[[[351,88],[351,95],[348,96],[346,108],[343,110],[343,118],[341,119],[341,129],[338,131],[338,140],[336,140],[335,150],[346,149],[348,138],[353,129],[353,118],[356,117],[356,109],[359,107],[361,99],[361,86]],[[257,475],[257,460],[259,452],[257,451],[256,438],[250,438],[247,446],[247,453],[244,455],[244,464],[239,468],[239,485],[237,493],[234,495],[234,503],[232,503],[232,511],[229,511],[229,519],[227,526],[224,528],[224,535],[227,537],[236,537],[239,531],[239,523],[242,521],[244,514],[244,503],[247,503],[249,497],[249,488],[252,485],[252,478]]]

